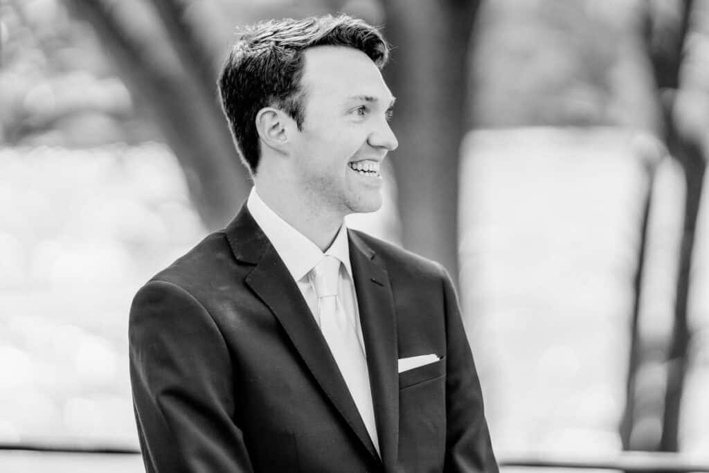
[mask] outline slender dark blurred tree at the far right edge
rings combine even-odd
[[[688,291],[690,287],[691,258],[693,254],[696,221],[702,194],[703,175],[705,173],[705,156],[701,148],[701,136],[691,130],[683,130],[679,126],[678,116],[681,110],[676,108],[675,98],[683,87],[680,83],[680,69],[685,55],[686,38],[690,30],[690,20],[693,1],[684,0],[672,4],[676,7],[674,14],[666,14],[658,18],[658,7],[668,8],[668,4],[660,6],[652,0],[647,1],[647,57],[652,64],[655,82],[657,84],[657,101],[662,109],[664,142],[669,154],[680,163],[686,182],[686,201],[684,206],[684,224],[681,236],[678,274],[676,279],[676,299],[674,306],[674,325],[669,340],[666,360],[666,390],[662,412],[654,413],[653,417],[662,420],[661,438],[658,450],[677,451],[679,432],[679,413],[688,366],[688,343],[690,331],[687,321]],[[668,18],[670,18],[668,20]],[[706,123],[703,124],[706,126]],[[701,129],[694,125],[694,128]],[[637,306],[636,306],[637,311]],[[638,370],[644,362],[649,362],[651,346],[639,340],[637,333],[637,313],[633,323],[633,347],[628,373],[628,399],[623,417],[621,433],[623,446],[626,449],[643,447],[632,445],[630,433],[637,425],[634,389]]]

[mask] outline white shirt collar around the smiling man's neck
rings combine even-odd
[[[345,265],[347,274],[350,275],[350,278],[352,277],[350,245],[347,241],[345,223],[342,223],[335,240],[323,253],[318,245],[267,206],[256,191],[256,187],[252,187],[246,207],[267,238],[271,240],[281,260],[296,281],[300,281],[306,276],[323,259],[324,255],[332,255],[340,260]]]

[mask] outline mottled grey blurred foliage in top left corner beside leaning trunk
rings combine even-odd
[[[63,4],[6,0],[0,13],[2,143],[90,146],[155,134],[91,29]]]

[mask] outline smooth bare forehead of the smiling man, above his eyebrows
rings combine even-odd
[[[316,46],[306,50],[304,57],[301,80],[313,100],[372,96],[389,104],[392,99],[379,68],[360,50]]]

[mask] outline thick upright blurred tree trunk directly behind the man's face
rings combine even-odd
[[[441,262],[456,281],[459,145],[467,50],[478,1],[384,0],[393,45],[384,69],[398,96],[392,153],[403,245]]]

